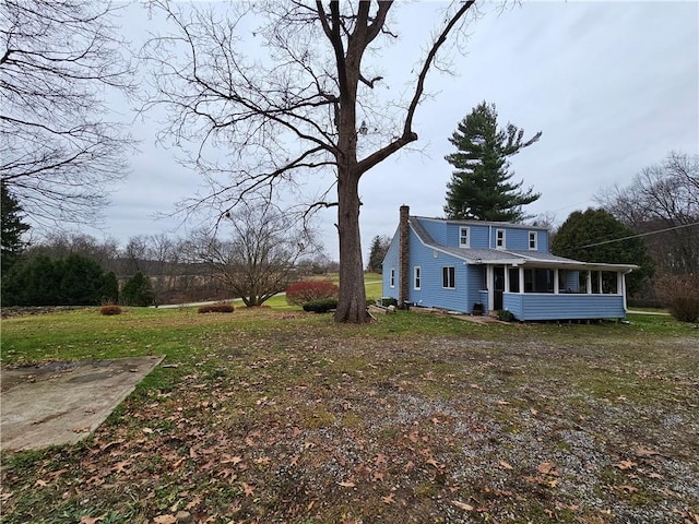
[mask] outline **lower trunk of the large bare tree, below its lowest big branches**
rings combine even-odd
[[[341,278],[340,300],[335,312],[337,322],[364,323],[369,320],[362,263],[358,188],[358,176],[353,172],[339,174],[337,233]]]

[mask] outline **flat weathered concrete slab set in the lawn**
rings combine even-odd
[[[0,445],[19,451],[81,441],[164,358],[47,362],[2,369]]]

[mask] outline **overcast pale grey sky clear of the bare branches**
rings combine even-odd
[[[413,27],[416,34],[438,7],[401,5],[394,15],[399,31],[411,35]],[[525,136],[543,132],[511,158],[511,168],[514,181],[542,193],[524,211],[553,214],[558,223],[593,206],[604,188],[628,184],[671,150],[699,153],[698,2],[524,2],[502,12],[495,7],[486,4],[471,26],[466,55],[454,62],[458,74],[429,76],[436,96],[418,108],[414,124],[422,152],[402,152],[364,176],[365,261],[374,236],[393,235],[401,204],[412,214],[442,216],[452,170],[443,158],[454,151],[448,139],[483,100],[496,104],[501,126],[510,121]],[[146,27],[157,29],[157,21],[132,7],[125,11],[125,27],[137,45]],[[414,56],[408,44],[410,37],[379,58],[387,68],[413,63],[420,43]],[[174,211],[201,179],[174,162],[176,152],[154,145],[157,129],[149,120],[134,124],[143,142],[132,172],[112,194],[104,231],[85,233],[122,246],[137,235],[186,234],[173,230],[177,219],[156,219],[154,213]],[[324,212],[318,225],[327,253],[336,260],[333,214]]]

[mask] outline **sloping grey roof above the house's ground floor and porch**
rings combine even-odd
[[[593,263],[581,262],[579,260],[567,259],[565,257],[558,257],[552,253],[543,253],[540,251],[514,251],[505,249],[471,249],[471,248],[452,248],[438,243],[433,239],[431,235],[427,233],[427,229],[423,226],[420,221],[424,217],[410,216],[408,225],[419,239],[419,241],[429,248],[437,251],[450,254],[458,259],[464,260],[470,264],[505,264],[513,266],[530,266],[530,267],[550,267],[550,269],[569,269],[569,270],[584,270],[584,271],[624,271],[630,272],[638,269],[638,265],[633,264],[606,264],[606,263]],[[467,221],[450,221],[450,222],[463,222]],[[473,222],[470,222],[471,224]],[[498,223],[499,224],[499,223]]]

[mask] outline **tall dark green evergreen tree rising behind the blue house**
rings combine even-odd
[[[508,157],[536,142],[542,132],[524,141],[524,130],[512,123],[497,127],[495,104],[481,103],[461,122],[449,142],[458,152],[445,158],[455,170],[447,184],[448,218],[521,222],[522,206],[536,201],[541,193],[523,182],[512,183]]]

